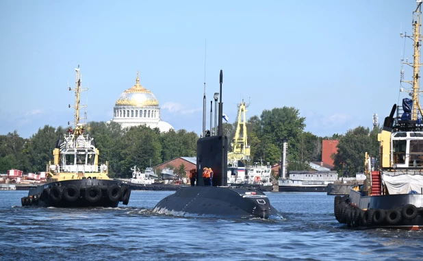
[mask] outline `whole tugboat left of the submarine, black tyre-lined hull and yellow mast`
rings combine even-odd
[[[47,165],[46,184],[29,189],[28,196],[21,199],[22,206],[116,208],[119,201],[124,205],[129,202],[130,188],[108,177],[107,162],[99,165],[99,149],[79,123],[79,94],[83,90],[79,65],[75,71],[74,129],[69,128],[57,140],[53,164]]]

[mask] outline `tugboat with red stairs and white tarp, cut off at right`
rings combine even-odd
[[[355,185],[345,197],[336,196],[334,214],[348,227],[384,227],[420,230],[423,228],[423,121],[419,104],[421,5],[413,12],[413,81],[411,99],[394,104],[378,134],[380,158],[365,155],[366,180]],[[401,88],[401,91],[403,89]],[[396,114],[396,116],[395,116]]]

